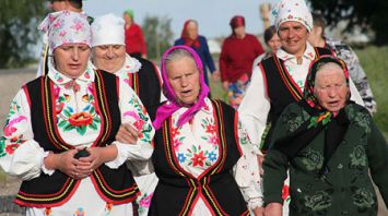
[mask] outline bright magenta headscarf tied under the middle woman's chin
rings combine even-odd
[[[204,82],[203,77],[203,65],[200,57],[197,52],[188,46],[174,46],[169,48],[167,51],[164,52],[162,60],[161,60],[161,71],[162,71],[162,79],[163,79],[163,92],[166,98],[168,99],[167,103],[163,104],[161,107],[157,108],[156,111],[156,119],[152,122],[155,130],[162,127],[164,120],[171,117],[176,110],[180,109],[183,105],[177,101],[175,92],[169,84],[167,70],[166,70],[166,58],[168,55],[176,50],[176,49],[185,49],[189,51],[195,60],[198,71],[199,71],[199,82],[200,82],[200,92],[198,96],[198,100],[193,104],[190,108],[188,108],[179,118],[178,127],[183,125],[184,123],[188,122],[192,119],[192,117],[204,106],[204,98],[208,96],[210,89]]]

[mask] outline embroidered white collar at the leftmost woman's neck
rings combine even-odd
[[[93,64],[89,61],[87,62],[87,68],[86,70],[75,80],[66,76],[64,74],[60,73],[57,71],[57,69],[54,67],[52,62],[49,62],[48,67],[48,74],[47,74],[50,80],[57,84],[57,85],[64,85],[70,82],[77,82],[78,84],[81,83],[91,83],[94,81],[94,72],[93,72]]]

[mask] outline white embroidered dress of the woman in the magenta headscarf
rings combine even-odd
[[[219,141],[215,127],[213,105],[209,98],[204,99],[202,107],[192,120],[177,128],[179,117],[187,110],[180,108],[172,116],[171,134],[173,135],[173,146],[175,157],[184,170],[193,177],[200,177],[217,161]],[[233,127],[233,125],[227,125]],[[252,146],[245,129],[238,123],[238,137],[243,156],[234,166],[233,176],[248,203],[248,208],[252,209],[262,205],[262,193],[260,189],[260,175],[257,163],[258,148]],[[203,197],[199,197],[190,215],[211,215]]]

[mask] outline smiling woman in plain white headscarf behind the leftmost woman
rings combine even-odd
[[[124,20],[114,14],[95,19],[92,24],[92,61],[97,69],[124,79],[153,118],[162,94],[158,71],[151,61],[126,53],[124,24]],[[117,139],[120,137],[122,136]],[[146,215],[157,178],[155,173],[151,173],[136,176],[134,180],[141,192],[137,200],[138,212],[140,215]]]

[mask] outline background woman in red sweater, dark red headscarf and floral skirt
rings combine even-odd
[[[220,71],[230,104],[237,109],[250,80],[252,62],[264,50],[255,35],[245,33],[244,16],[234,16],[230,24],[232,35],[222,45]]]

